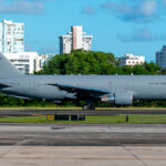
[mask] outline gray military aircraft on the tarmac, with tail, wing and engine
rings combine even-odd
[[[162,75],[24,75],[0,53],[0,92],[51,101],[84,100],[132,105],[133,100],[166,100]]]

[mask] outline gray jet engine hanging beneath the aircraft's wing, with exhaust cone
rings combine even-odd
[[[116,92],[114,95],[102,97],[102,102],[115,103],[118,106],[127,106],[133,104],[133,93],[131,92]]]

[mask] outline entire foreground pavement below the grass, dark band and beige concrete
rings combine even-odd
[[[166,125],[0,124],[0,166],[165,166]]]

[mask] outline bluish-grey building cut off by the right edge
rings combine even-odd
[[[162,69],[166,69],[166,45],[163,45],[163,49],[156,52],[156,63]]]

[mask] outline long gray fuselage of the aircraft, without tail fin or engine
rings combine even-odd
[[[1,92],[32,98],[76,98],[75,93],[51,84],[100,90],[107,94],[129,92],[133,100],[166,100],[166,76],[163,75],[31,75],[2,79],[9,87]]]

